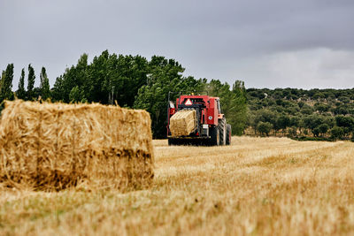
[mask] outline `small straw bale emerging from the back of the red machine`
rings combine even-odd
[[[173,137],[189,135],[196,130],[196,110],[180,110],[170,118]]]

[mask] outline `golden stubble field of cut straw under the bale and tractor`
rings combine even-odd
[[[0,189],[0,235],[354,233],[352,142],[233,137],[227,147],[154,146],[150,189]]]

